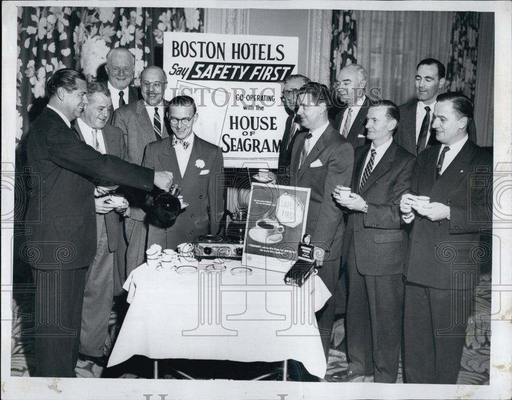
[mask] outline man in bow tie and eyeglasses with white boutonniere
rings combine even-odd
[[[176,249],[180,243],[193,241],[198,235],[216,234],[224,210],[222,179],[222,150],[194,134],[197,113],[194,99],[177,96],[169,102],[167,119],[173,135],[146,146],[142,165],[155,171],[173,171],[180,187],[183,208],[169,228],[160,228],[150,215],[147,242],[163,249]],[[153,203],[157,193],[146,197]]]

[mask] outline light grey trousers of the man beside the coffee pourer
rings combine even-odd
[[[114,253],[109,250],[103,215],[99,222],[98,247],[86,275],[80,331],[80,352],[93,357],[103,357],[114,297]]]

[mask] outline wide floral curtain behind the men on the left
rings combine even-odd
[[[106,53],[122,46],[135,55],[138,86],[145,66],[162,66],[163,32],[203,32],[203,20],[199,8],[18,7],[16,145],[46,105],[54,71],[106,79]]]

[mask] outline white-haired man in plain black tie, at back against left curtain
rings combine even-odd
[[[137,89],[130,86],[133,79],[135,56],[126,48],[116,47],[106,53],[105,71],[109,76],[107,85],[112,98],[113,112],[109,124],[112,124],[114,111],[125,104],[135,103],[140,99]]]

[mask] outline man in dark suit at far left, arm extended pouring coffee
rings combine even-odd
[[[172,174],[155,172],[101,154],[72,128],[88,100],[86,77],[71,69],[56,71],[47,83],[48,106],[32,123],[27,162],[38,176],[27,220],[39,221],[27,234],[25,252],[33,268],[37,304],[37,376],[74,377],[87,266],[97,248],[91,181],[152,190],[168,189]]]

